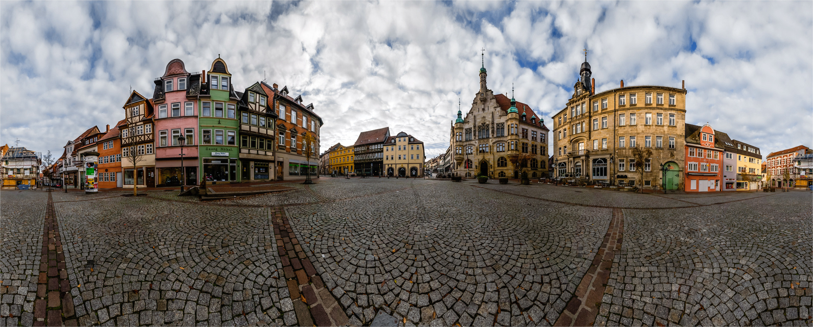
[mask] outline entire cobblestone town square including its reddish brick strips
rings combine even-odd
[[[813,323],[810,191],[280,185],[0,191],[0,325]]]

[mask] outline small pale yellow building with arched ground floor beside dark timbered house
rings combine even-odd
[[[424,142],[400,132],[384,143],[384,171],[387,176],[424,176]]]

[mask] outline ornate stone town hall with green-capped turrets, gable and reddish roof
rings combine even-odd
[[[519,178],[511,164],[528,157],[529,178],[547,177],[548,128],[529,105],[487,87],[485,65],[480,67],[480,90],[472,108],[463,117],[458,110],[451,128],[450,149],[454,156],[452,174],[473,177]]]

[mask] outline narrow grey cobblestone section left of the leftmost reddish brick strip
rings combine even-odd
[[[48,195],[0,191],[0,325],[33,325]]]

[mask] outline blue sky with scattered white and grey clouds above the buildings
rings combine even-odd
[[[236,88],[287,85],[324,119],[322,150],[389,126],[448,146],[485,48],[489,88],[550,122],[590,49],[596,91],[680,87],[687,123],[763,153],[813,145],[813,2],[0,2],[0,144],[59,155],[124,118],[173,58],[218,54]],[[469,104],[469,105],[467,105]]]

